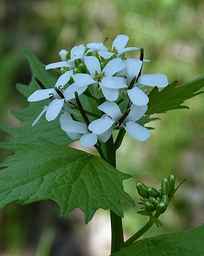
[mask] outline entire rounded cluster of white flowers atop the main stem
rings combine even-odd
[[[48,69],[61,68],[61,76],[55,87],[35,91],[28,101],[50,98],[51,103],[43,108],[32,125],[35,125],[44,112],[47,121],[54,120],[59,113],[62,130],[82,146],[93,146],[106,142],[114,129],[125,129],[133,138],[145,141],[150,132],[136,123],[147,111],[148,97],[144,86],[165,87],[167,77],[160,73],[141,75],[143,49],[140,59],[126,59],[125,52],[137,50],[125,48],[129,37],[118,35],[112,48],[103,43],[90,43],[75,46],[71,51],[59,52],[60,62],[51,63]],[[79,95],[94,98],[101,115],[83,109]],[[124,110],[125,112],[121,112]],[[87,116],[92,116],[89,121]]]

